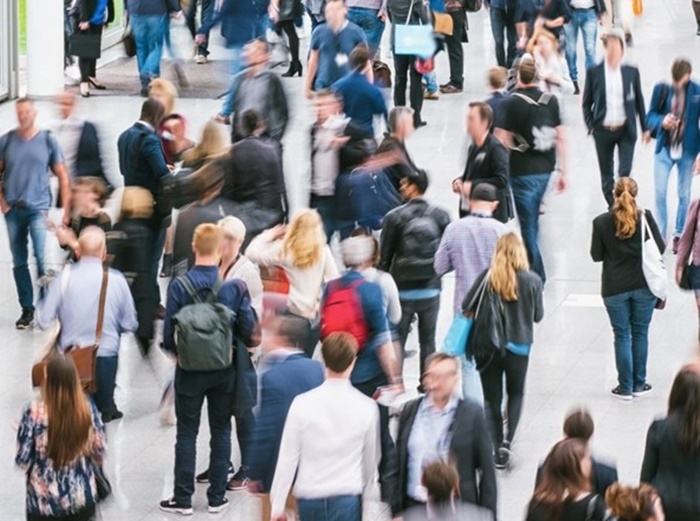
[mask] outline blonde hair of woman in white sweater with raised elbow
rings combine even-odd
[[[308,269],[323,258],[326,234],[316,210],[302,210],[294,216],[282,242],[282,254],[295,268]]]

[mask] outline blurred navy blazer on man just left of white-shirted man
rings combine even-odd
[[[269,492],[272,486],[284,422],[294,398],[318,387],[324,380],[321,364],[303,353],[270,358],[272,365],[260,378],[260,411],[248,474],[252,480],[262,482],[264,492]]]

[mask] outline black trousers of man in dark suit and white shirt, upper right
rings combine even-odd
[[[629,135],[624,127],[614,132],[598,127],[593,131],[593,140],[598,154],[603,197],[605,197],[608,207],[612,207],[613,188],[615,187],[615,148],[617,148],[618,154],[617,172],[620,177],[627,177],[632,171],[635,139]]]

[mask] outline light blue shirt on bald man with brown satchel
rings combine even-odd
[[[73,345],[95,343],[97,310],[102,286],[102,261],[83,257],[70,264],[51,284],[46,298],[39,303],[37,321],[42,329],[55,319],[61,324],[58,349],[63,352]],[[64,277],[67,282],[63,282]],[[65,289],[64,289],[65,286]],[[117,356],[122,333],[136,331],[136,309],[124,275],[109,270],[107,296],[102,323],[102,340],[97,356]]]

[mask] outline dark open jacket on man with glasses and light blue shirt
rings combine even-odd
[[[406,509],[408,495],[408,438],[423,398],[408,402],[399,419],[396,449],[399,459],[399,496],[401,509]],[[450,457],[459,474],[460,499],[488,508],[496,513],[496,470],[493,447],[489,438],[483,409],[474,402],[460,400],[452,424]]]

